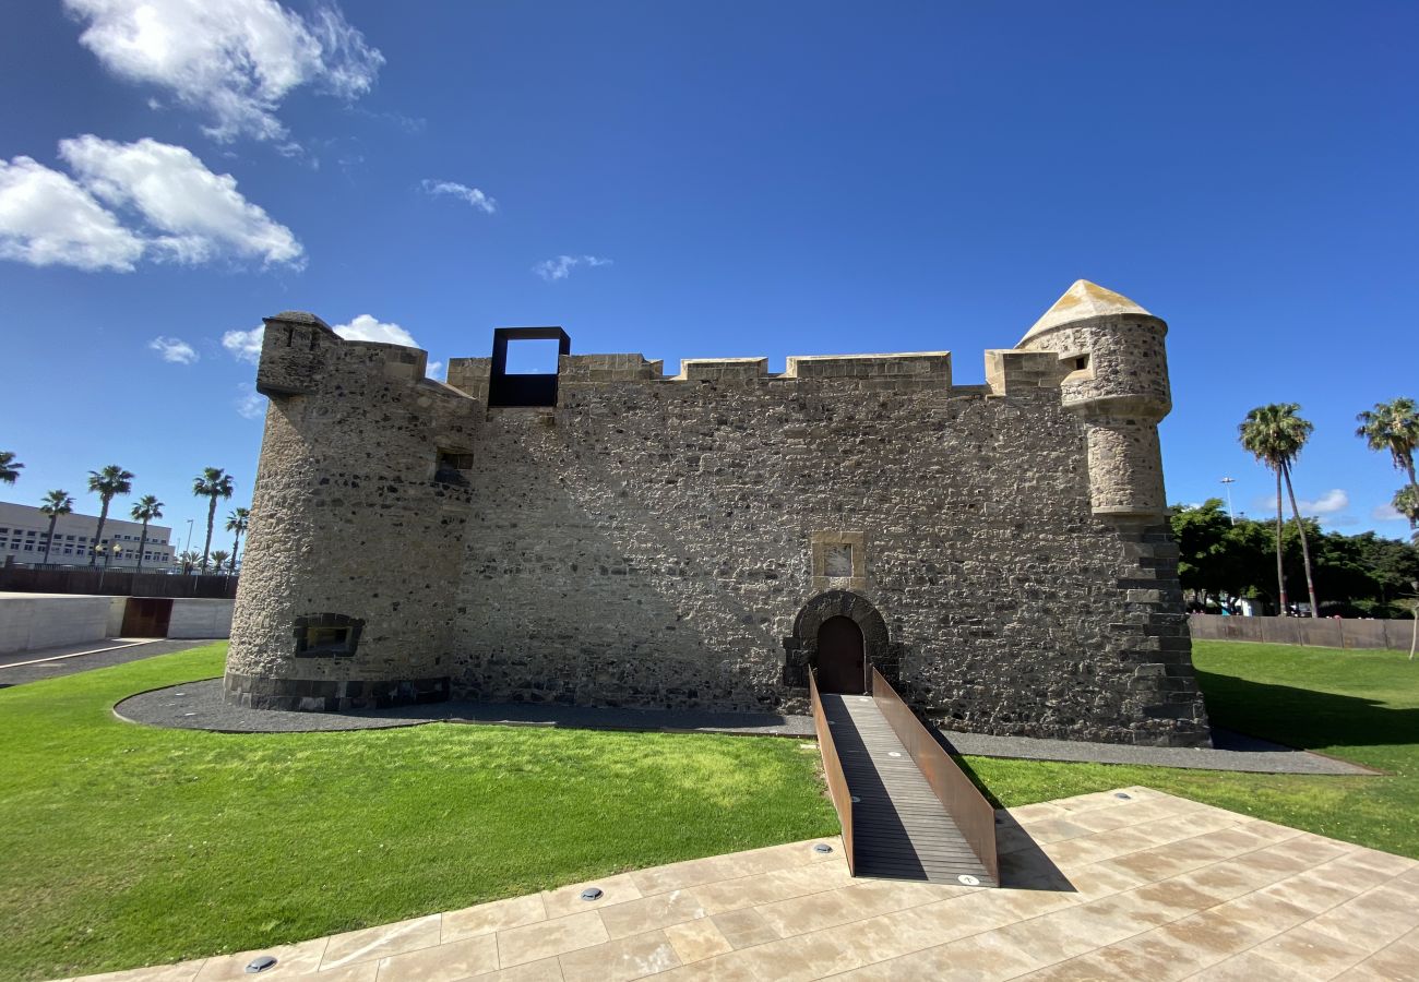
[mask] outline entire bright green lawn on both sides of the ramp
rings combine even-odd
[[[430,724],[224,735],[109,710],[224,646],[0,691],[0,978],[179,961],[836,832],[799,741]],[[1149,785],[1419,857],[1419,661],[1200,641],[1213,719],[1385,771],[965,758],[998,802]]]

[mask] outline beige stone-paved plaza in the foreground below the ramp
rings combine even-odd
[[[999,890],[854,880],[813,840],[88,978],[1419,979],[1415,860],[1148,788],[999,819]]]

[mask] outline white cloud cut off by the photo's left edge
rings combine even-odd
[[[0,160],[0,258],[131,272],[143,241],[68,175]]]

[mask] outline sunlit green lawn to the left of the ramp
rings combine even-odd
[[[834,833],[797,741],[115,719],[224,644],[0,691],[0,976],[241,951]]]

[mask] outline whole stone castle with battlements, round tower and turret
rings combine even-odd
[[[1208,745],[1169,541],[1166,325],[1078,281],[951,355],[491,358],[265,319],[227,698],[802,710],[877,668],[946,727]],[[508,343],[553,338],[555,375]]]

